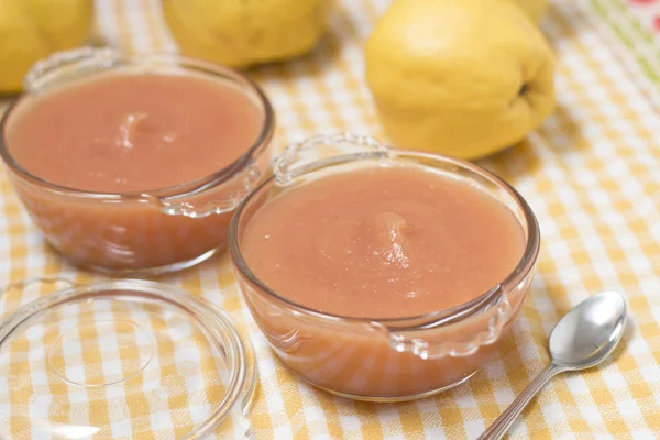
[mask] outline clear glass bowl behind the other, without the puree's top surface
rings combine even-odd
[[[223,169],[144,193],[66,188],[30,174],[14,161],[7,133],[18,111],[44,91],[112,72],[175,73],[231,84],[263,112],[261,133],[241,157]],[[235,207],[265,175],[274,133],[271,103],[250,78],[176,55],[129,57],[110,48],[84,47],[37,63],[24,82],[25,92],[0,121],[0,156],[33,222],[63,255],[100,272],[153,274],[189,267],[227,245]]]

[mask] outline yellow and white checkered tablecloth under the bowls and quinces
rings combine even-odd
[[[277,111],[279,146],[338,131],[383,138],[363,79],[361,41],[386,3],[340,2],[314,54],[251,72]],[[97,6],[107,43],[131,52],[175,50],[157,0],[98,0]],[[260,369],[251,411],[257,439],[474,439],[549,362],[547,339],[557,320],[602,289],[619,289],[629,301],[630,326],[620,349],[602,367],[557,377],[524,413],[512,438],[660,438],[658,46],[635,30],[642,25],[630,19],[636,15],[616,15],[613,8],[627,6],[624,0],[553,2],[543,31],[559,57],[557,111],[527,142],[483,161],[530,202],[543,244],[513,336],[468,383],[397,405],[333,397],[297,380],[270,351],[240,299],[227,254],[164,279],[220,304],[249,332]],[[66,264],[44,245],[4,169],[0,210],[2,283],[43,275],[102,278]],[[38,294],[12,290],[2,305],[8,311]],[[230,436],[234,426],[218,437]]]

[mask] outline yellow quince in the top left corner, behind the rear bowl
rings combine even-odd
[[[0,0],[0,95],[21,90],[30,67],[80,45],[94,23],[94,0]]]

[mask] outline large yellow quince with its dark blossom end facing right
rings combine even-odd
[[[503,0],[395,0],[365,46],[366,81],[402,147],[477,158],[554,107],[552,51]]]

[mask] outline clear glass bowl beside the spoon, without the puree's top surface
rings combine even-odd
[[[327,156],[324,150],[340,150]],[[322,157],[326,156],[326,157]],[[374,163],[415,164],[460,178],[496,197],[519,221],[525,250],[515,270],[477,298],[447,310],[404,319],[330,315],[273,292],[246,264],[241,243],[254,213],[273,197],[310,179]],[[230,250],[242,295],[274,352],[310,384],[337,395],[374,402],[426,397],[472,376],[510,331],[529,290],[540,237],[537,220],[507,183],[471,163],[388,148],[371,138],[343,134],[289,146],[274,176],[237,209]]]

